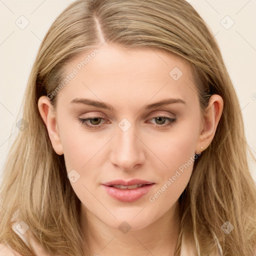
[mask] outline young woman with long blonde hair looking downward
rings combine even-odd
[[[183,0],[53,22],[1,187],[3,255],[253,255],[256,189],[218,45]]]

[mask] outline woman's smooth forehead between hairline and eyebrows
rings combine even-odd
[[[128,49],[106,43],[93,50],[67,63],[63,78],[72,72],[75,75],[59,93],[66,101],[86,96],[125,104],[164,97],[194,101],[197,97],[190,65],[174,54],[156,48]]]

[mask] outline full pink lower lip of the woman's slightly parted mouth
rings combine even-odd
[[[153,184],[140,186],[134,189],[120,189],[112,186],[103,185],[106,189],[106,192],[111,195],[116,200],[122,202],[133,202],[145,195],[151,188]]]

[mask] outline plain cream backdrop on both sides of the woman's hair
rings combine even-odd
[[[0,174],[18,132],[18,110],[39,44],[73,0],[0,0]],[[256,0],[189,0],[219,43],[238,95],[246,143],[256,157]],[[256,181],[256,164],[249,157]]]

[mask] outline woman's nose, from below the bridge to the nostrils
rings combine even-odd
[[[140,136],[136,134],[133,125],[126,131],[117,130],[111,143],[113,150],[110,161],[115,167],[130,171],[144,163],[146,146]]]

